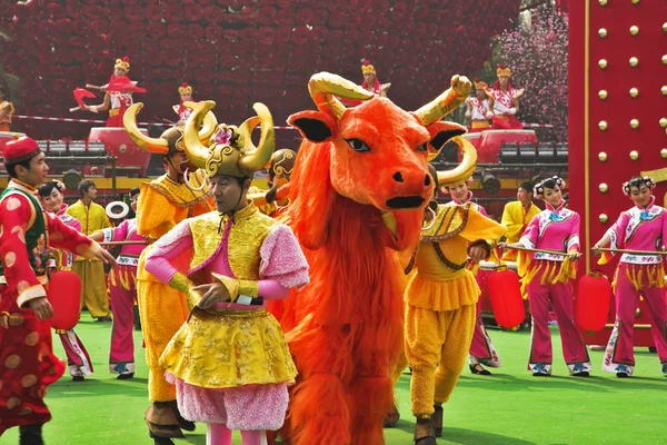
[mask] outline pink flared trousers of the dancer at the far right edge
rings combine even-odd
[[[635,369],[635,352],[633,330],[635,314],[639,306],[639,295],[647,303],[651,334],[664,374],[667,374],[667,299],[665,289],[649,286],[648,274],[641,274],[641,290],[635,289],[626,276],[627,265],[621,263],[616,283],[616,324],[609,337],[603,370],[609,373],[633,374]],[[661,279],[661,277],[660,277]]]

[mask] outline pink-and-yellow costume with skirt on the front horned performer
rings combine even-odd
[[[253,205],[233,218],[213,211],[186,219],[160,238],[147,255],[146,270],[173,286],[183,256],[186,275],[198,283],[227,286],[238,278],[241,286],[235,303],[193,308],[160,358],[176,384],[180,413],[209,423],[209,434],[220,443],[231,443],[231,429],[240,429],[246,443],[255,433],[280,428],[296,368],[265,301],[286,298],[289,288],[308,283],[295,235]],[[189,298],[195,303],[192,291]]]

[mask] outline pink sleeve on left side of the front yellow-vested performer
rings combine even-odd
[[[171,263],[186,250],[192,249],[192,235],[188,220],[179,222],[151,246],[146,256],[145,269],[162,283],[169,283],[178,269]]]

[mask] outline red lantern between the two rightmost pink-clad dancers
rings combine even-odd
[[[607,324],[611,285],[600,270],[591,270],[579,279],[575,299],[575,323],[587,333],[600,330]]]

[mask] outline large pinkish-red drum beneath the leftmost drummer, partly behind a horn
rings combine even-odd
[[[148,130],[141,128],[140,131],[148,135]],[[146,177],[146,170],[150,162],[150,154],[143,151],[128,136],[125,128],[96,127],[90,129],[88,144],[102,142],[104,150],[111,156],[116,156],[116,169],[123,172],[132,170],[136,176]]]

